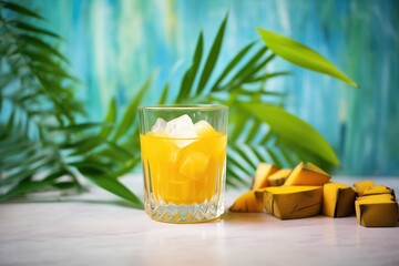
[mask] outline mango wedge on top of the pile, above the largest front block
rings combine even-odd
[[[313,163],[300,162],[287,177],[285,186],[308,185],[323,186],[328,183],[330,175],[314,165]]]

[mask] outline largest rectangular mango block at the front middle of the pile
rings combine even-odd
[[[306,218],[320,214],[323,186],[270,186],[264,188],[267,213],[280,219]]]

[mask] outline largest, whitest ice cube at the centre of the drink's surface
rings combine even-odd
[[[198,134],[195,131],[194,123],[187,114],[178,116],[166,123],[166,134],[173,139],[195,139]],[[193,143],[194,140],[176,140],[178,147],[184,147]]]

